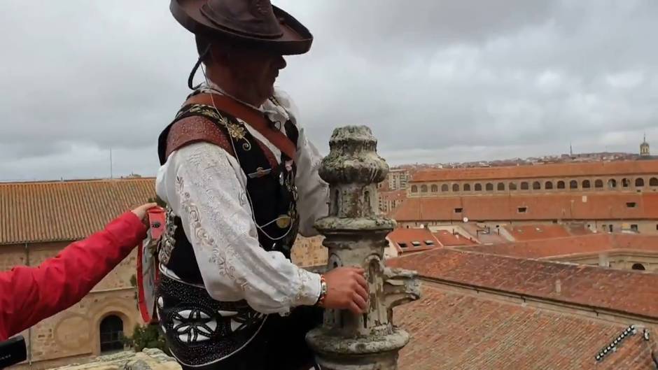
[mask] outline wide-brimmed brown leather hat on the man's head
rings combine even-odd
[[[169,8],[193,34],[267,48],[281,55],[304,54],[313,35],[269,0],[172,0]]]

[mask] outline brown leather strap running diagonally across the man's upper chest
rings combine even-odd
[[[269,122],[261,112],[241,104],[239,101],[226,97],[220,94],[196,94],[188,98],[184,105],[188,104],[202,104],[204,106],[214,106],[220,111],[224,111],[235,118],[239,118],[247,122],[253,129],[260,132],[267,140],[272,143],[276,148],[288,156],[288,158],[295,160],[295,153],[297,146],[290,141],[290,138],[283,134],[283,132],[274,129],[270,126]]]

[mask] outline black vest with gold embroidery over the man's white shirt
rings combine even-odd
[[[273,102],[276,104],[276,101]],[[219,134],[223,135],[230,144],[229,148],[224,149],[238,160],[242,171],[246,174],[247,199],[244,201],[251,203],[261,248],[268,251],[278,250],[290,259],[290,248],[293,246],[299,227],[295,187],[297,170],[294,162],[281,153],[281,157],[276,158],[273,166],[274,158],[271,152],[266,153],[269,149],[252,136],[240,120],[228,113],[217,111],[212,106],[194,104],[183,106],[174,121],[160,134],[158,138],[160,164],[165,164],[167,161],[167,141],[172,127],[176,122],[187,118],[209,120],[214,125],[213,129],[218,129]],[[283,124],[286,136],[296,145],[299,132],[292,122],[273,122],[273,124]],[[195,141],[204,140],[197,139],[190,143]],[[171,148],[169,151],[172,151]],[[218,209],[221,211],[221,205]],[[174,216],[170,209],[167,214],[169,238],[165,233],[161,241],[160,262],[183,281],[203,284],[193,247],[183,231],[181,218]],[[239,248],[239,246],[235,247]]]

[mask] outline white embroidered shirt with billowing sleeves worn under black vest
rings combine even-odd
[[[313,236],[315,220],[328,214],[328,185],[318,176],[321,156],[297,124],[292,101],[279,90],[274,97],[285,108],[267,101],[260,111],[273,122],[289,118],[300,133],[295,178],[300,234]],[[258,131],[245,126],[276,158],[281,156]],[[294,306],[314,304],[320,276],[295,266],[281,252],[260,247],[246,180],[237,159],[223,148],[193,143],[169,155],[158,171],[155,190],[181,218],[211,297],[245,299],[260,313],[286,314]]]

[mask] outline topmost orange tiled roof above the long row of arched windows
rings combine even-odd
[[[412,182],[446,180],[505,180],[512,178],[575,176],[658,176],[658,161],[584,162],[538,164],[534,166],[486,167],[470,169],[427,169],[416,172]]]

